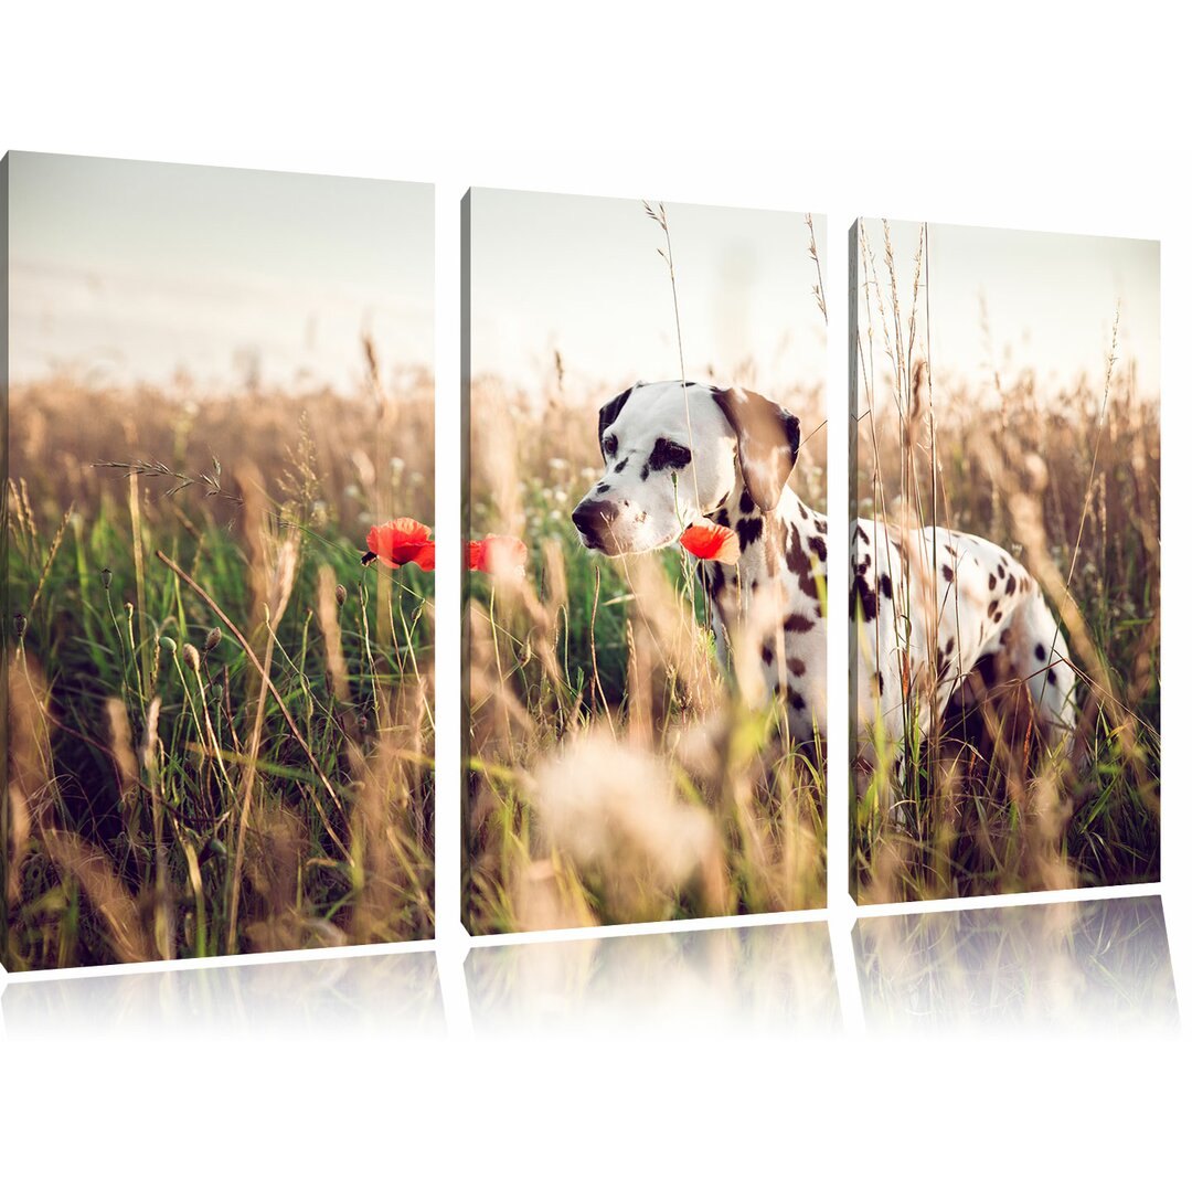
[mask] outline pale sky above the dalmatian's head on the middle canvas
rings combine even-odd
[[[803,215],[681,203],[666,212],[688,376],[704,378],[710,364],[732,383],[752,360],[763,389],[822,383]],[[471,231],[473,374],[533,391],[558,349],[579,388],[678,377],[665,240],[640,199],[473,190]],[[826,269],[822,218],[815,234]]]

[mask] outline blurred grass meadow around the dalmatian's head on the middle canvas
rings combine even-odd
[[[733,379],[760,383],[751,365]],[[825,904],[822,743],[791,749],[776,712],[745,708],[693,559],[604,558],[571,525],[603,470],[597,410],[621,388],[575,391],[558,358],[534,391],[472,382],[467,535],[528,546],[524,578],[474,572],[465,589],[474,934]],[[821,392],[766,395],[802,420],[793,484],[824,508]]]

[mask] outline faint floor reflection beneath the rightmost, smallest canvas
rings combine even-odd
[[[862,918],[853,953],[870,1030],[1179,1023],[1159,897]]]

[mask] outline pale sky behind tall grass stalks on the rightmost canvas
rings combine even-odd
[[[889,277],[882,221],[864,221],[889,316]],[[907,322],[918,223],[892,222],[895,277]],[[1159,395],[1159,243],[1042,231],[930,224],[931,359],[937,379],[989,383],[992,365],[1013,377],[1033,368],[1044,392],[1085,373],[1100,391],[1120,302],[1118,368],[1137,361],[1138,395]],[[925,274],[926,275],[926,274]],[[861,273],[863,283],[864,274]],[[919,345],[926,287],[919,296]],[[865,324],[864,291],[858,290]],[[982,330],[982,302],[988,335]],[[871,299],[875,364],[883,351]],[[876,364],[879,370],[881,364]]]

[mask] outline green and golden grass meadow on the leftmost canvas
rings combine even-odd
[[[10,971],[433,934],[429,376],[13,388]]]

